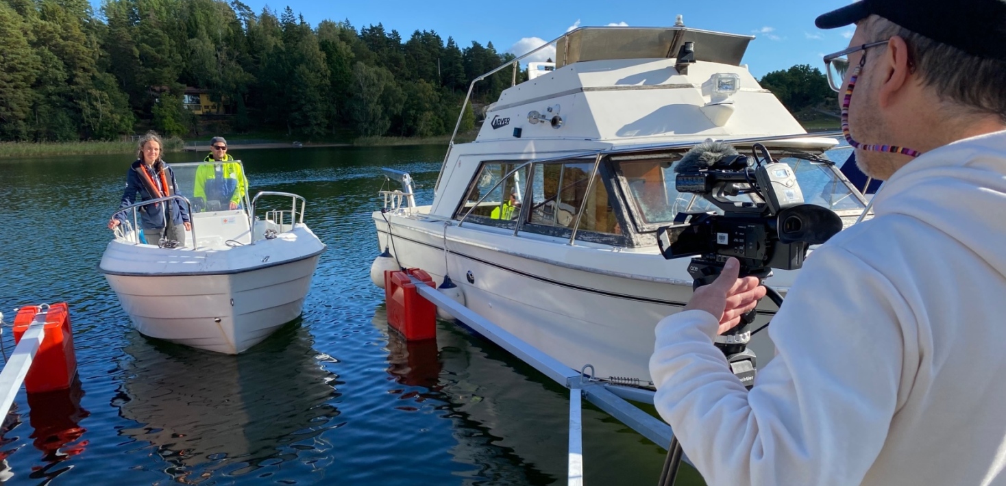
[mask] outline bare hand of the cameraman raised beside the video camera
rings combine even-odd
[[[716,280],[695,289],[685,310],[705,310],[719,318],[718,334],[730,330],[740,323],[741,315],[758,305],[766,292],[758,277],[737,278],[739,274],[740,263],[730,258]]]

